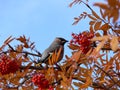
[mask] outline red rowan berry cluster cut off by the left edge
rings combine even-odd
[[[11,58],[7,55],[0,56],[0,73],[2,75],[15,73],[20,68],[16,59],[11,60]]]

